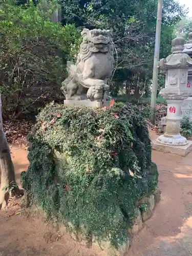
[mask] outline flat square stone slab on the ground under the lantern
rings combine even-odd
[[[170,146],[154,140],[152,141],[152,149],[185,157],[192,150],[192,141],[188,140],[188,144],[184,146]]]

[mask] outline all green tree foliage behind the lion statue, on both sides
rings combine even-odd
[[[43,2],[53,8],[57,4],[56,0]],[[75,60],[80,42],[77,28],[83,27],[113,31],[112,95],[121,91],[139,99],[140,95],[150,94],[157,0],[58,0],[63,26],[50,22],[52,9],[40,11],[41,1],[0,0],[0,3],[0,92],[6,106],[4,118],[34,113],[47,99],[59,97],[58,88],[66,75],[66,60],[73,57]],[[183,7],[175,0],[163,1],[160,57],[170,53],[175,24],[184,15]],[[187,26],[189,29],[190,24]],[[161,75],[159,87],[163,84]],[[6,102],[12,103],[7,105]]]

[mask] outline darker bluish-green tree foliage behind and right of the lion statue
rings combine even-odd
[[[111,91],[125,93],[147,91],[152,78],[157,0],[60,0],[62,23],[77,27],[104,28],[113,31],[116,47],[115,73]],[[160,57],[170,53],[175,24],[185,15],[175,0],[164,0]]]

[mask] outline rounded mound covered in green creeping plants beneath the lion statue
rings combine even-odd
[[[32,202],[98,240],[117,247],[126,241],[138,200],[158,182],[141,113],[131,105],[92,110],[50,104],[29,141],[22,181]]]

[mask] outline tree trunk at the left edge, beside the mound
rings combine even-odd
[[[19,189],[15,182],[15,172],[9,145],[3,130],[2,121],[2,99],[0,95],[0,169],[1,169],[1,186],[0,186],[0,209],[5,209],[10,191],[18,193]]]

